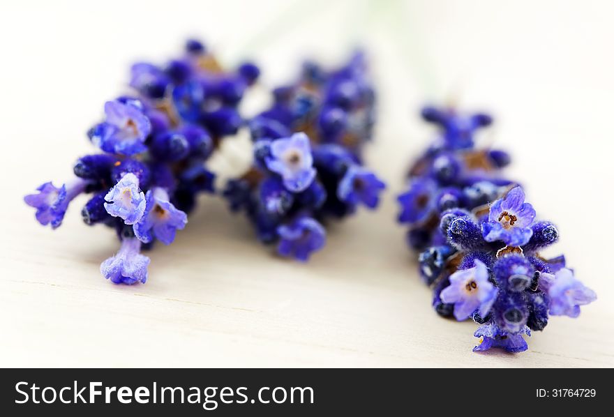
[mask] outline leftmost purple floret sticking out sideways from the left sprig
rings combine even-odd
[[[61,187],[44,183],[36,189],[38,193],[25,196],[24,202],[36,208],[36,220],[41,225],[51,224],[52,229],[56,229],[62,223],[68,204],[85,190],[86,185],[87,181],[80,178]]]

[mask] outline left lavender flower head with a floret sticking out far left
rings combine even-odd
[[[165,66],[136,63],[133,93],[105,103],[105,119],[89,130],[103,153],[79,158],[72,180],[60,187],[44,183],[25,202],[36,208],[41,225],[55,229],[68,204],[91,193],[84,222],[114,228],[121,241],[100,271],[117,284],[145,282],[149,258],[141,250],[156,240],[172,243],[196,195],[214,191],[214,174],[204,164],[244,123],[237,105],[258,75],[252,63],[222,70],[197,40]]]

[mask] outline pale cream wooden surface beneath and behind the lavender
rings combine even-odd
[[[355,1],[172,4],[0,6],[0,365],[614,365],[608,2],[392,1],[376,11],[368,3],[352,11]],[[332,227],[306,265],[272,256],[243,218],[204,197],[177,240],[149,254],[149,282],[115,286],[98,268],[117,242],[82,224],[84,199],[52,232],[22,196],[66,178],[93,151],[84,132],[121,92],[130,61],[164,59],[193,33],[227,62],[250,52],[265,73],[261,91],[287,79],[300,56],[338,61],[364,35],[381,103],[368,162],[389,190],[380,210]],[[484,143],[512,151],[509,174],[527,185],[538,215],[560,226],[549,253],[564,252],[599,296],[579,319],[553,317],[523,354],[474,354],[476,325],[437,317],[394,221],[403,170],[430,138],[414,114],[450,95],[493,109],[497,128]],[[247,107],[255,111],[257,100]],[[234,142],[220,169],[237,165]]]

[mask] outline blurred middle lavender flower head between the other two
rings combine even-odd
[[[378,204],[385,185],[361,156],[375,95],[357,53],[334,71],[305,63],[299,79],[273,96],[273,105],[249,121],[253,167],[228,181],[224,195],[233,211],[246,213],[260,241],[306,261],[324,245],[328,218]]]

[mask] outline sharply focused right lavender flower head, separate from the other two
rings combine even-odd
[[[410,225],[407,241],[419,251],[433,306],[444,317],[481,325],[474,351],[525,351],[523,335],[543,330],[548,315],[578,317],[597,296],[563,256],[539,255],[559,232],[536,220],[523,188],[502,176],[509,155],[475,146],[475,133],[491,117],[434,107],[422,116],[439,134],[410,169],[398,220]]]

